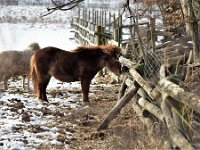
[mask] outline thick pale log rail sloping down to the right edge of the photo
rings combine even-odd
[[[184,91],[184,89],[180,88],[178,85],[174,84],[171,81],[168,81],[167,79],[162,79],[158,83],[159,89],[161,91],[166,92],[168,95],[170,95],[175,100],[187,105],[194,111],[200,113],[200,97]]]

